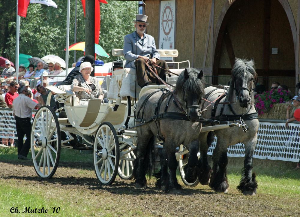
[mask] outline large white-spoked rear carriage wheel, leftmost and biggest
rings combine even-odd
[[[56,114],[48,105],[35,113],[30,144],[35,172],[41,178],[51,178],[58,166],[61,137]]]

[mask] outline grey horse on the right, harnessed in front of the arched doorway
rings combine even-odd
[[[244,143],[245,159],[242,178],[237,189],[243,194],[255,195],[257,182],[253,169],[253,151],[257,142],[257,130],[259,126],[258,116],[255,108],[253,89],[257,80],[257,74],[254,67],[254,61],[241,60],[236,58],[232,68],[232,77],[229,86],[229,92],[225,98],[220,100],[219,104],[214,106],[214,118],[218,120],[239,120],[240,117],[248,126],[248,131],[244,132],[242,128],[233,127],[214,131],[217,135],[217,145],[213,151],[213,169],[207,162],[207,151],[213,140],[213,132],[202,133],[199,149],[200,158],[198,161],[198,179],[202,185],[207,185],[215,191],[227,192],[228,182],[226,177],[227,148],[230,145]],[[224,92],[223,89],[215,87],[205,88],[205,98],[212,102]],[[222,104],[230,102],[230,104]],[[210,103],[205,102],[204,108]],[[212,104],[213,106],[214,104]],[[203,113],[204,118],[211,118],[212,106]],[[211,174],[212,172],[212,174]],[[210,182],[209,182],[210,181]]]

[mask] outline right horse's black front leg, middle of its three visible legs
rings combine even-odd
[[[216,148],[213,152],[213,173],[211,176],[211,181],[209,182],[209,186],[215,191],[224,193],[227,193],[228,191],[229,185],[226,176],[227,164],[227,147],[225,144],[220,144],[217,142]]]

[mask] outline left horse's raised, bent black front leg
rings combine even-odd
[[[198,161],[198,151],[199,151],[199,140],[194,140],[189,146],[189,158],[187,164],[184,166],[184,179],[187,182],[193,183],[198,178],[196,172],[196,165]]]

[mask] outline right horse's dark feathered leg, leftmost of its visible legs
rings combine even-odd
[[[200,149],[200,158],[197,164],[197,174],[198,180],[201,185],[208,185],[212,173],[212,169],[208,164],[207,160],[207,151],[209,146],[214,140],[213,131],[209,133],[200,134],[199,138],[199,149]]]

